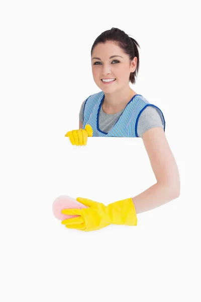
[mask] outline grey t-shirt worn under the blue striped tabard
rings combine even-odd
[[[84,102],[82,103],[79,112],[79,120],[82,124],[84,121],[83,109],[84,109],[85,101],[86,100],[84,100]],[[108,133],[113,128],[113,126],[115,125],[115,123],[117,122],[118,118],[120,117],[123,111],[124,109],[115,114],[108,114],[103,111],[103,108],[101,106],[99,112],[99,120],[98,120],[100,130]],[[137,126],[138,136],[142,137],[142,135],[147,130],[154,127],[161,127],[164,129],[164,124],[163,121],[161,120],[160,114],[158,113],[158,109],[153,106],[147,106],[140,114],[138,120],[138,126]]]

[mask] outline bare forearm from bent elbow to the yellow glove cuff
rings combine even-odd
[[[175,198],[179,194],[170,189],[169,186],[156,183],[139,195],[132,197],[136,213],[142,213],[159,207]]]

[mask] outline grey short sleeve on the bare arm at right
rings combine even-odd
[[[164,124],[159,114],[159,109],[153,106],[147,106],[140,114],[137,126],[137,133],[139,137],[149,129],[154,127],[161,127],[164,129]]]

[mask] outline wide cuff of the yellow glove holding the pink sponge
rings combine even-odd
[[[138,219],[132,198],[126,198],[107,205],[106,217],[110,224],[137,225]]]

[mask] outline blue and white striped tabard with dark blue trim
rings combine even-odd
[[[157,106],[150,104],[143,96],[135,95],[127,104],[114,127],[109,133],[106,133],[101,131],[98,126],[99,111],[104,98],[105,94],[101,91],[89,96],[84,104],[83,129],[89,124],[93,129],[93,136],[139,137],[137,134],[137,125],[140,114],[147,106],[158,108]],[[161,119],[164,120],[163,124],[165,131],[165,119],[160,108],[158,109]]]

